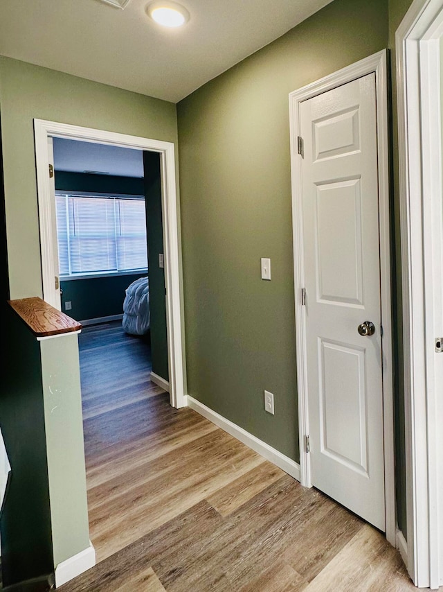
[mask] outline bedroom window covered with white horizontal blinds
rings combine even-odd
[[[55,196],[60,277],[147,269],[145,198]]]

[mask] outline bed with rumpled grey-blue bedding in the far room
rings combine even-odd
[[[147,277],[139,277],[126,288],[122,325],[129,335],[145,335],[150,330],[150,293]]]

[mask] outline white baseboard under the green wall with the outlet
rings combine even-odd
[[[246,432],[246,430],[240,428],[237,426],[237,424],[233,424],[232,421],[229,421],[229,419],[226,419],[209,407],[206,407],[206,405],[200,403],[200,401],[197,401],[197,399],[193,399],[190,397],[190,395],[187,395],[185,398],[188,407],[197,411],[197,413],[203,415],[203,417],[206,417],[206,419],[209,419],[209,421],[212,421],[213,424],[219,426],[219,428],[231,436],[237,438],[237,440],[243,442],[243,444],[246,444],[246,446],[249,446],[249,448],[253,449],[253,451],[262,455],[264,458],[266,458],[266,460],[269,460],[275,464],[277,467],[282,469],[282,471],[288,473],[288,475],[297,481],[300,481],[300,464],[298,464],[298,462],[292,460],[288,456],[285,456],[278,450],[275,450],[275,448],[269,446],[269,444],[266,444],[266,442],[263,442],[249,432]]]

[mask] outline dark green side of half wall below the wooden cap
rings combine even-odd
[[[11,466],[0,518],[3,586],[53,572],[39,342],[2,304],[0,426]]]

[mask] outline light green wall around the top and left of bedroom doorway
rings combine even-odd
[[[176,107],[0,56],[10,294],[42,296],[33,119],[177,142]]]

